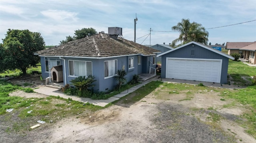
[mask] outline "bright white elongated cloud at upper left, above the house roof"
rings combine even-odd
[[[56,20],[56,21],[63,21],[63,20],[73,20],[76,21],[78,18],[76,12],[66,12],[64,10],[46,10],[40,12],[43,16]]]

